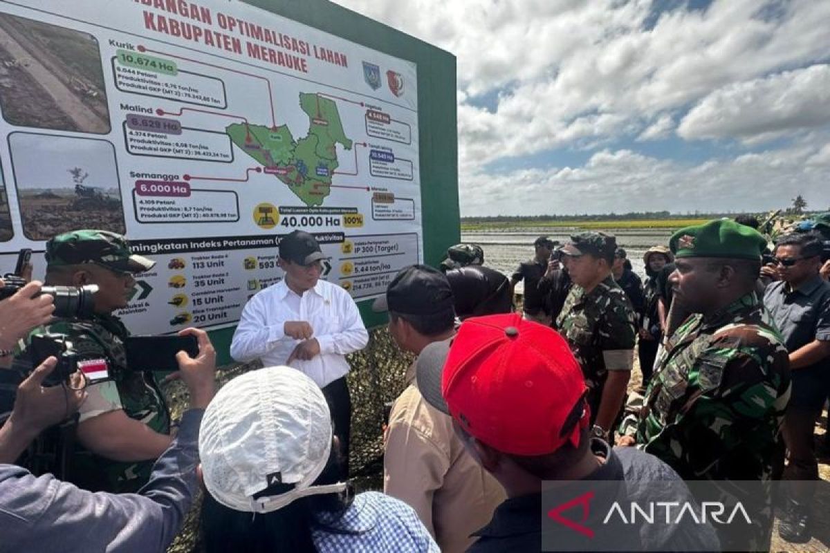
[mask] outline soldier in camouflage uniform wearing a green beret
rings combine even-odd
[[[769,479],[789,400],[787,350],[754,293],[766,240],[748,226],[718,220],[678,230],[670,246],[676,297],[695,314],[657,359],[638,416],[637,447],[681,478],[715,481],[724,497],[740,499],[740,487],[725,481]],[[635,443],[626,422],[620,445]],[[753,521],[756,531],[739,548],[723,535],[721,546],[765,551],[769,508]]]

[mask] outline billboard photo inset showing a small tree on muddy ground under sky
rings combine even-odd
[[[31,240],[76,229],[124,234],[115,148],[106,140],[12,133],[12,171]]]

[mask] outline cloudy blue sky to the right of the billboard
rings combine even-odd
[[[828,0],[335,0],[458,62],[461,214],[830,208]]]

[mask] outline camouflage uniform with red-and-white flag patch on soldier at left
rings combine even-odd
[[[170,416],[164,395],[152,374],[129,371],[124,340],[129,335],[119,318],[95,315],[91,320],[61,319],[46,332],[66,334],[81,357],[103,357],[109,361],[113,381],[87,388],[88,398],[81,406],[81,422],[96,415],[123,409],[131,419],[140,420],[160,434],[170,431]],[[15,368],[22,374],[31,370],[26,350],[18,355]],[[136,492],[149,480],[154,460],[121,463],[102,458],[76,444],[67,463],[64,479],[91,491]]]

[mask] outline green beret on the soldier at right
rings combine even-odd
[[[725,257],[761,260],[767,240],[757,230],[730,219],[716,219],[705,225],[687,226],[671,235],[671,253],[676,258]]]

